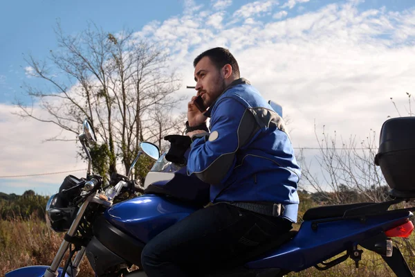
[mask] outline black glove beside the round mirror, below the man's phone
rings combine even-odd
[[[172,163],[178,163],[185,165],[187,163],[185,159],[185,152],[190,148],[192,139],[189,136],[181,136],[179,134],[172,134],[164,137],[165,141],[169,141],[170,149],[167,152],[165,158]]]

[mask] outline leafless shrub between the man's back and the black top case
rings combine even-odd
[[[320,172],[313,171],[311,162],[302,161],[302,186],[309,186],[328,204],[351,203],[360,201],[381,202],[387,198],[385,178],[374,163],[378,152],[376,132],[370,130],[364,141],[350,136],[347,141],[338,139],[336,132],[329,136],[323,132],[315,137],[318,154],[315,162]],[[340,144],[339,144],[340,143]]]

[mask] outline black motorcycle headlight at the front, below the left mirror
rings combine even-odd
[[[46,204],[46,225],[55,232],[65,232],[73,222],[74,207],[68,207],[68,202],[59,194],[52,195]]]

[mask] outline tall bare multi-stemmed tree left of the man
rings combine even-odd
[[[95,170],[116,172],[120,160],[127,172],[140,141],[160,145],[162,134],[178,124],[172,114],[168,120],[154,116],[165,116],[163,107],[171,110],[181,100],[174,97],[180,80],[169,68],[169,56],[132,32],[113,35],[90,26],[71,36],[64,35],[58,24],[55,33],[59,48],[50,51],[48,60],[32,55],[26,59],[33,77],[44,80],[48,89],[26,85],[33,103],[28,107],[17,102],[19,116],[55,124],[75,135],[88,118],[102,143],[93,148],[101,159]],[[35,114],[33,105],[47,111],[48,118]],[[158,122],[163,124],[154,124]],[[73,141],[62,135],[50,140]]]

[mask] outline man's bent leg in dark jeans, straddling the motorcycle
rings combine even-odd
[[[142,266],[149,277],[199,276],[289,229],[282,219],[216,204],[153,238],[142,251]]]

